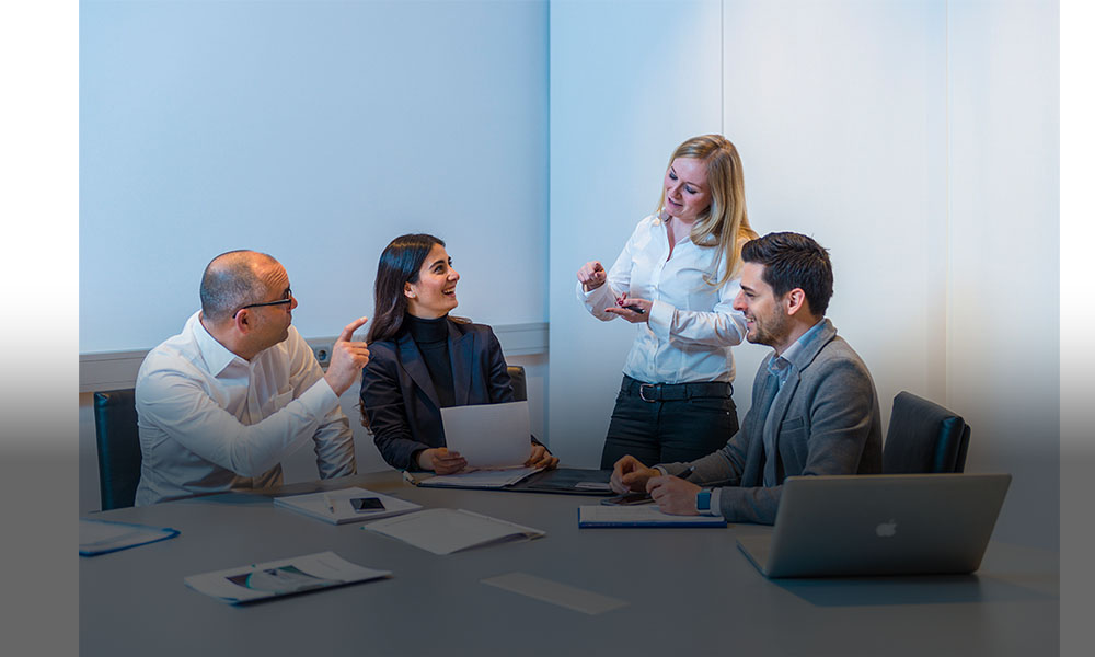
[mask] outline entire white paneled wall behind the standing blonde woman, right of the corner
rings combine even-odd
[[[722,130],[753,227],[830,249],[828,314],[884,420],[900,390],[964,414],[967,469],[1015,475],[996,535],[1056,546],[1056,21],[1031,1],[553,3],[555,445],[596,463],[631,341],[585,314],[574,270],[615,257],[678,142]],[[735,348],[739,416],[764,353]]]

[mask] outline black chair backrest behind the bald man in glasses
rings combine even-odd
[[[95,393],[95,448],[103,510],[132,506],[141,458],[131,388]]]

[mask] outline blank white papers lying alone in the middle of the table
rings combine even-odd
[[[399,539],[434,554],[451,554],[469,548],[544,535],[539,529],[464,509],[426,509],[370,522],[361,529]]]

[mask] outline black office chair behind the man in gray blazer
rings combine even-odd
[[[969,425],[938,404],[901,391],[883,447],[883,472],[912,474],[966,469]]]

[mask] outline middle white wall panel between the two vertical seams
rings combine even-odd
[[[945,392],[945,35],[942,2],[726,3],[725,126],[753,228],[829,249],[828,316],[885,418],[900,390]]]

